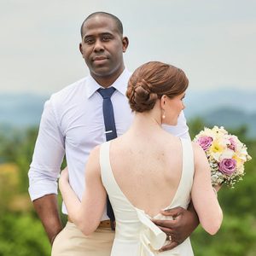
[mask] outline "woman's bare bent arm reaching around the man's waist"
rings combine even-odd
[[[67,170],[61,172],[59,181],[68,216],[85,236],[96,230],[107,200],[107,193],[102,185],[99,154],[99,146],[90,153],[85,168],[85,189],[81,202],[68,183]]]

